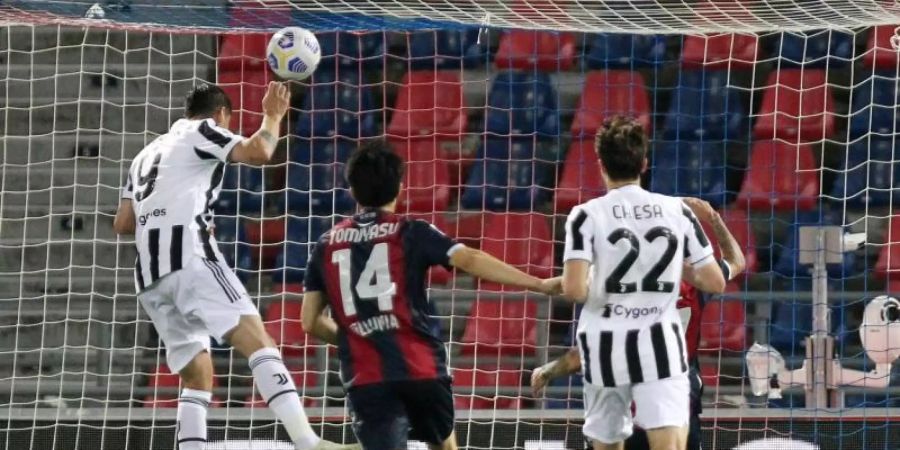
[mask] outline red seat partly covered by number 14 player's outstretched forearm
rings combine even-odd
[[[546,216],[536,213],[484,214],[481,249],[531,275],[547,278],[553,273],[553,234]],[[481,289],[505,287],[480,282]]]

